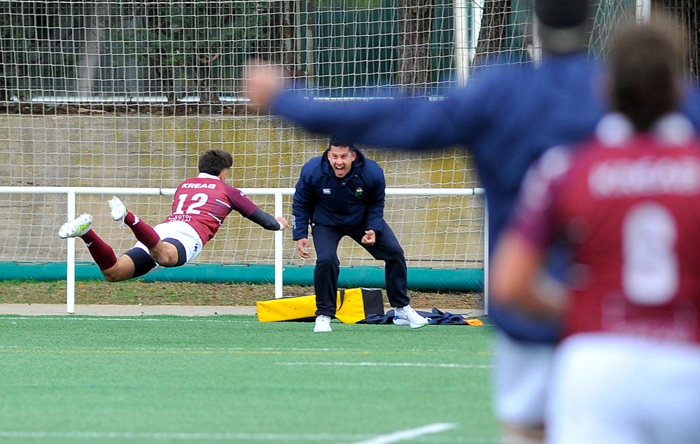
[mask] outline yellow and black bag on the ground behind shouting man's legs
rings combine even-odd
[[[255,303],[258,321],[311,321],[316,318],[316,295],[288,296]],[[335,317],[344,324],[355,324],[368,315],[384,315],[384,299],[379,288],[338,290]]]

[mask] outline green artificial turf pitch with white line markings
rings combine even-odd
[[[0,442],[498,443],[489,327],[312,327],[0,316]]]

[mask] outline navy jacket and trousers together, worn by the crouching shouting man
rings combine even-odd
[[[330,150],[330,148],[329,148]],[[295,241],[309,237],[309,223],[316,249],[314,291],[316,315],[335,315],[340,262],[340,239],[351,237],[374,259],[384,261],[386,296],[393,307],[407,306],[407,267],[403,249],[384,221],[384,171],[377,162],[357,153],[352,169],[338,178],[328,162],[328,150],[302,167],[292,204]],[[377,234],[374,245],[361,243],[365,230]]]

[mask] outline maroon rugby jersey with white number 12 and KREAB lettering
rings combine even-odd
[[[256,208],[255,203],[241,190],[222,182],[216,176],[200,173],[177,187],[172,214],[165,222],[181,221],[190,224],[204,245],[214,237],[232,210],[248,217],[255,213]]]

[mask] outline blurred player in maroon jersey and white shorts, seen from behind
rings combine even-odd
[[[496,248],[494,297],[563,320],[547,443],[700,443],[700,139],[676,112],[673,37],[650,24],[617,36],[617,113],[542,156]],[[554,242],[573,253],[563,299],[535,279]]]

